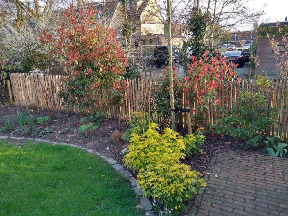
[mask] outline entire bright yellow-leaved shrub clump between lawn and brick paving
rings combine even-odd
[[[186,138],[169,128],[163,134],[158,130],[158,125],[151,123],[142,136],[132,133],[123,161],[138,172],[138,188],[143,188],[144,196],[158,199],[165,208],[184,207],[182,203],[206,183],[199,172],[181,164],[180,159],[191,152],[200,152],[205,137],[200,130],[196,136]]]

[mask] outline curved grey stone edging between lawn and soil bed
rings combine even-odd
[[[69,145],[71,147],[77,147],[80,149],[84,149],[86,150],[86,152],[88,153],[92,153],[92,154],[96,154],[98,155],[100,158],[105,159],[105,161],[107,161],[110,165],[112,165],[112,167],[118,171],[122,176],[126,177],[129,182],[130,185],[133,187],[134,192],[136,193],[136,195],[139,197],[140,200],[140,204],[141,204],[141,209],[145,210],[145,215],[146,216],[152,216],[153,213],[151,212],[152,210],[152,205],[150,200],[147,197],[142,197],[143,195],[143,191],[138,190],[137,189],[137,181],[136,179],[132,176],[132,174],[126,170],[121,164],[119,164],[116,160],[114,160],[113,158],[107,158],[104,155],[101,155],[99,152],[95,152],[93,149],[87,149],[83,146],[80,145],[75,145],[75,144],[68,144],[68,143],[58,143],[58,142],[53,142],[51,140],[44,140],[44,139],[33,139],[33,138],[24,138],[24,137],[15,137],[15,136],[0,136],[0,139],[16,139],[16,140],[31,140],[31,141],[38,141],[38,142],[44,142],[44,143],[51,143],[53,145],[58,144],[58,145]]]

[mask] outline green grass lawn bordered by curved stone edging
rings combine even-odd
[[[143,215],[135,196],[127,180],[94,154],[0,141],[0,215]]]

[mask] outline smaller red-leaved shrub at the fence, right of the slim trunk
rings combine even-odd
[[[210,60],[207,57],[209,51],[205,51],[199,60],[192,56],[192,63],[187,66],[187,76],[184,77],[183,89],[187,93],[192,93],[192,98],[198,98],[196,108],[200,111],[200,116],[197,117],[202,121],[209,115],[209,112],[204,112],[204,108],[208,108],[208,99],[217,97],[218,90],[228,83],[227,81],[233,81],[237,76],[235,68],[238,65],[227,62],[226,57],[221,56],[218,50],[215,50],[215,53],[216,57]],[[188,106],[187,102],[188,100],[186,106]],[[215,105],[220,102],[219,98],[216,99]]]

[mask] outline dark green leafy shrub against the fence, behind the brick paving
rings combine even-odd
[[[264,131],[270,125],[276,124],[276,109],[264,108],[265,96],[249,91],[240,91],[240,100],[226,117],[219,119],[217,133],[230,134],[238,139],[243,139],[247,144],[257,147],[262,140]],[[265,111],[269,116],[265,116]]]

